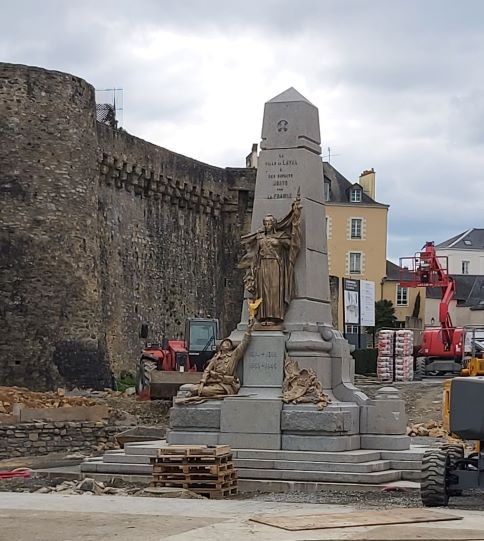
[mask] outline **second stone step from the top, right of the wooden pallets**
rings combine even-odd
[[[389,460],[374,460],[371,462],[308,462],[299,460],[259,460],[257,458],[237,458],[235,467],[257,470],[304,470],[325,472],[370,473],[391,469]]]

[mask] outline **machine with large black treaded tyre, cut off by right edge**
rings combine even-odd
[[[443,427],[453,438],[475,440],[467,454],[463,443],[446,443],[422,459],[420,493],[428,507],[445,506],[469,488],[484,489],[484,327],[464,327],[461,376],[444,382]]]

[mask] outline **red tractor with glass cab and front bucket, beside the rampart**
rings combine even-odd
[[[138,361],[136,392],[140,400],[169,399],[187,383],[198,383],[216,351],[218,319],[190,318],[185,322],[185,339],[146,343]],[[148,337],[148,326],[140,333]]]

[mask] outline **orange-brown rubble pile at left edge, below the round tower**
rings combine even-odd
[[[57,392],[34,392],[24,387],[0,387],[0,413],[12,413],[14,404],[27,408],[60,408],[95,406],[99,402],[82,396],[66,396],[64,389]]]

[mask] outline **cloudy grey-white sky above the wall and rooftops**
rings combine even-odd
[[[394,260],[484,227],[484,1],[3,0],[1,18],[1,60],[122,87],[127,131],[213,165],[243,166],[294,86],[331,163],[374,167]]]

